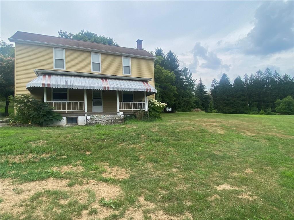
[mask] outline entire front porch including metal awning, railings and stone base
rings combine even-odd
[[[148,111],[148,95],[156,93],[148,78],[35,70],[26,85],[30,93],[61,113],[66,124],[119,120],[124,114]],[[82,122],[84,121],[84,122]],[[71,123],[69,123],[71,122]],[[107,123],[107,122],[105,122]]]

